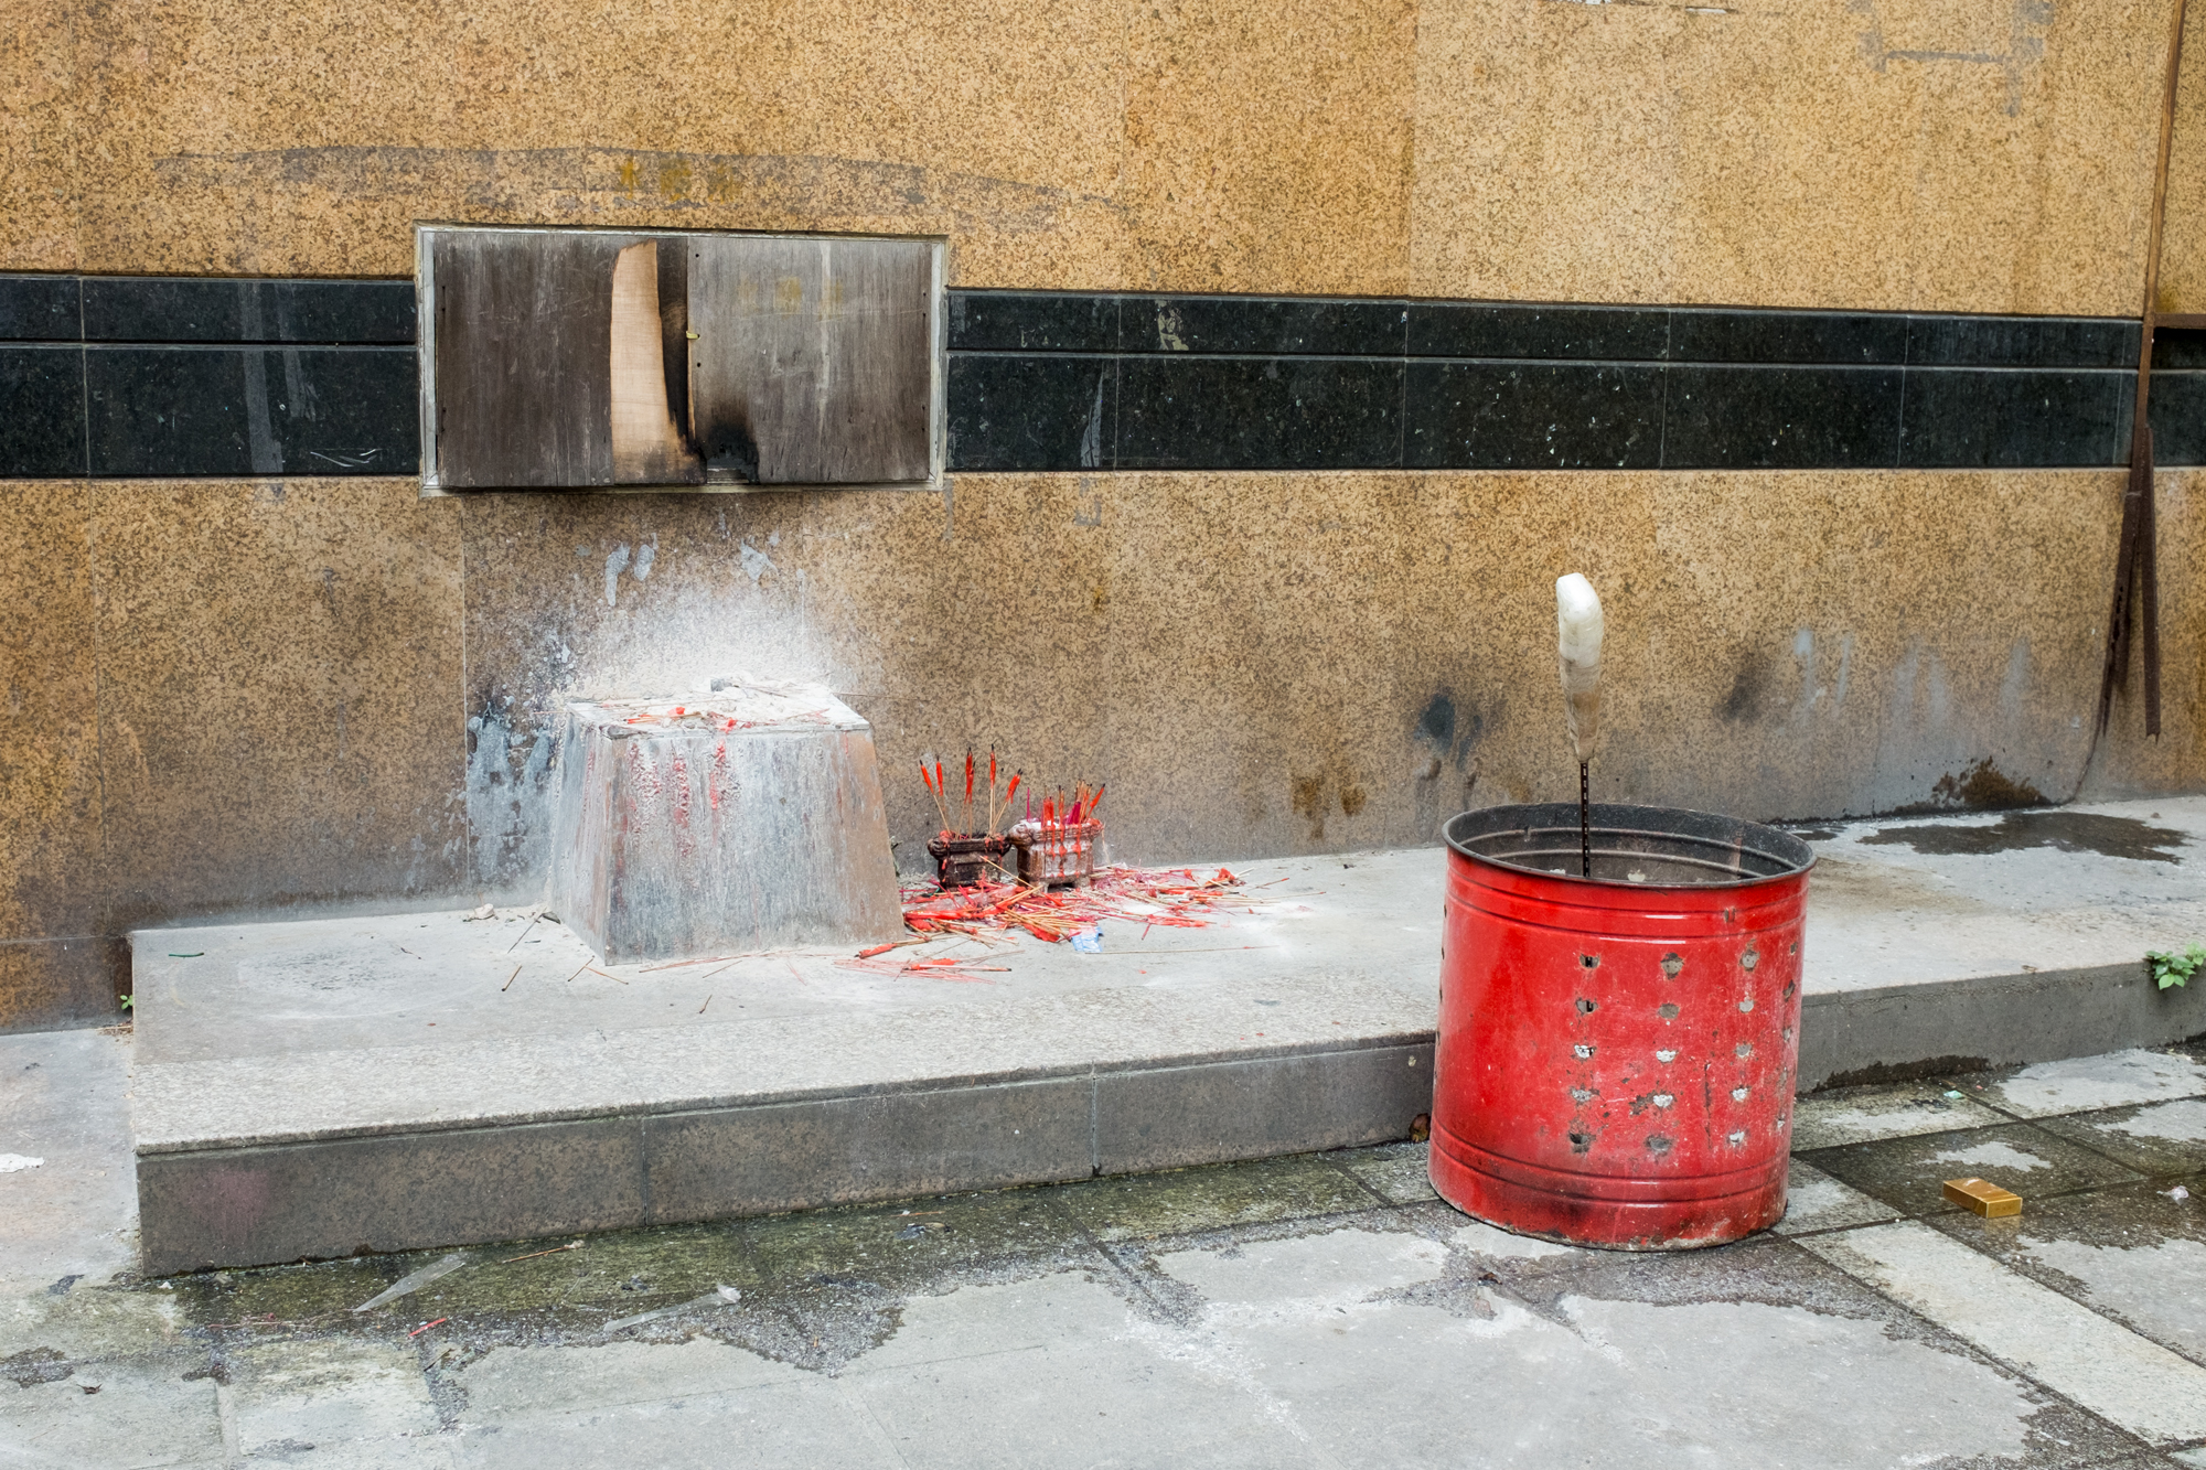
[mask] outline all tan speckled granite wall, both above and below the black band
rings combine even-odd
[[[26,0],[0,15],[0,271],[404,276],[441,219],[940,234],[955,287],[2127,316],[2171,4]],[[2202,283],[2195,82],[2162,305],[2206,309]],[[2162,479],[2166,735],[2124,704],[2089,795],[2206,779],[2206,614],[2175,572],[2199,483]],[[907,850],[900,773],[966,742],[1107,779],[1136,861],[1421,841],[1566,795],[1566,567],[1613,609],[1599,795],[2067,797],[2118,494],[2107,470],[4,483],[0,585],[31,614],[0,618],[0,1029],[108,1015],[132,925],[527,896],[547,706],[737,667],[823,673],[876,722]]]

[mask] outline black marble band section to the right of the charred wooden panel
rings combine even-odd
[[[955,291],[962,470],[2052,468],[2129,459],[2120,318]],[[2153,351],[2206,464],[2206,333]]]

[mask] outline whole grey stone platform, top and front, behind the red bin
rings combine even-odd
[[[1802,1086],[2206,1031],[2206,799],[1811,834]],[[146,929],[143,1265],[179,1271],[1405,1137],[1438,848],[1235,863],[1207,929],[598,967],[525,912]]]

